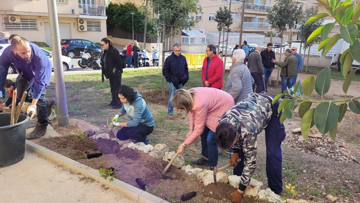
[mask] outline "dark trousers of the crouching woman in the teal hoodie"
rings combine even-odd
[[[117,139],[133,139],[139,142],[145,142],[145,139],[154,130],[154,126],[138,125],[135,127],[122,127],[116,134]]]

